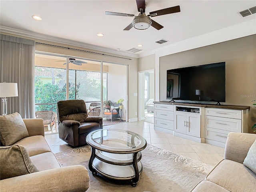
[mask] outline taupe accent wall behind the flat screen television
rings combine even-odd
[[[256,99],[256,35],[160,57],[160,100],[166,100],[166,70],[226,62],[226,103],[252,106]],[[249,131],[256,108],[249,112]]]

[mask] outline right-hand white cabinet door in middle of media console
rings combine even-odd
[[[200,137],[201,116],[196,114],[186,114],[186,134],[194,137]]]

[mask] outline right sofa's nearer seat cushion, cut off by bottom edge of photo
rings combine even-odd
[[[210,181],[203,180],[198,183],[191,192],[229,192],[223,187],[212,183]]]

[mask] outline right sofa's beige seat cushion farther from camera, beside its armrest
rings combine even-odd
[[[241,163],[222,160],[206,177],[206,180],[232,192],[255,191],[256,174]]]

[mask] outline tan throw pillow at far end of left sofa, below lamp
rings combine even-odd
[[[0,139],[4,146],[9,146],[15,142],[28,137],[28,130],[22,117],[17,112],[5,116],[0,116]]]

